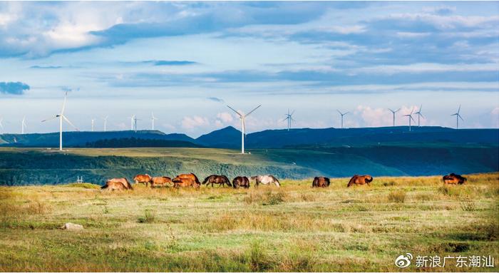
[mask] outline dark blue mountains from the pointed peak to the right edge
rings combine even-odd
[[[216,130],[197,138],[199,143],[214,148],[239,148],[241,132],[232,127]],[[264,130],[249,133],[247,148],[296,148],[307,146],[366,145],[378,143],[499,143],[498,129],[460,129],[422,126],[379,128],[300,128],[292,130]]]

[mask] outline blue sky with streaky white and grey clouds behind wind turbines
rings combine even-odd
[[[0,2],[0,133],[65,92],[79,130],[499,128],[499,2]]]

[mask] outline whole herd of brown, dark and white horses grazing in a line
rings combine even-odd
[[[280,187],[281,184],[279,183],[279,180],[277,180],[274,175],[256,175],[252,177],[246,177],[246,176],[238,176],[235,177],[232,180],[232,183],[230,182],[229,178],[225,175],[210,175],[205,178],[202,182],[200,182],[199,179],[197,179],[197,176],[195,174],[187,173],[187,174],[181,174],[177,175],[175,178],[170,178],[168,176],[159,176],[159,177],[151,177],[148,174],[145,175],[135,175],[133,177],[133,181],[135,182],[135,185],[137,184],[145,184],[146,187],[150,185],[150,187],[163,187],[163,186],[170,186],[170,187],[200,187],[201,185],[219,185],[222,187],[225,187],[227,185],[228,187],[234,187],[235,189],[237,188],[249,188],[249,181],[254,180],[254,186],[258,187],[258,185],[276,185],[277,187]],[[353,185],[371,185],[371,182],[373,182],[373,177],[371,175],[354,175],[351,177],[349,180],[348,184],[346,187],[351,187]],[[451,173],[450,175],[444,175],[442,177],[442,180],[445,184],[448,185],[461,185],[466,182],[466,178],[461,176],[461,175],[456,175],[455,173]],[[319,177],[314,177],[314,180],[312,181],[312,187],[329,187],[331,184],[331,181],[329,180],[329,177],[324,177],[324,176],[319,176]],[[110,180],[106,181],[106,185],[103,185],[101,187],[103,190],[133,190],[132,185],[126,178],[112,178]]]

